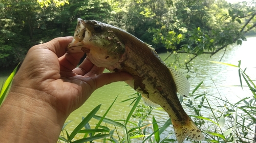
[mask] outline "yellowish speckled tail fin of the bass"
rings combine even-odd
[[[195,123],[189,118],[186,124],[180,123],[179,121],[172,120],[176,138],[179,143],[188,136],[189,138],[200,141],[204,139],[203,133],[197,128]]]

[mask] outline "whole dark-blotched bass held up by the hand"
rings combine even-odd
[[[97,67],[130,73],[134,80],[125,82],[141,93],[144,102],[160,105],[168,113],[179,143],[186,137],[196,141],[204,139],[177,96],[177,93],[188,96],[188,80],[167,67],[150,45],[121,28],[78,18],[67,52],[84,52]]]

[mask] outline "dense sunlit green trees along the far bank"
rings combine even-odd
[[[0,67],[16,66],[35,44],[72,36],[77,18],[121,27],[158,51],[212,55],[255,34],[255,6],[255,0],[0,0]]]

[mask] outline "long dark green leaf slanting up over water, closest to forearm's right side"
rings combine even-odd
[[[82,120],[82,122],[73,130],[73,132],[70,134],[68,141],[71,141],[75,135],[84,127],[84,125],[86,125],[92,118],[93,116],[97,113],[97,111],[99,110],[101,104],[96,106],[89,114],[86,118],[84,118]]]

